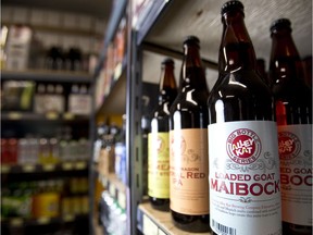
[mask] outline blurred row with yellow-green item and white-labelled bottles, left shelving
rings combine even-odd
[[[91,112],[91,94],[85,84],[36,83],[4,81],[1,89],[3,111],[33,111],[88,115]]]

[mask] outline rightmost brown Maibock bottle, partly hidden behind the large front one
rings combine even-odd
[[[291,23],[271,26],[270,75],[276,102],[283,233],[312,234],[312,90],[304,82]]]

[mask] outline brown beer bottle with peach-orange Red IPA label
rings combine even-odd
[[[176,226],[209,231],[208,108],[200,41],[188,36],[177,98],[170,110],[170,197]]]

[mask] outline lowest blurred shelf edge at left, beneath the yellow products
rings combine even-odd
[[[88,219],[88,214],[64,214],[57,218],[42,217],[38,219],[27,219],[27,218],[1,218],[1,224],[10,225],[12,227],[21,226],[38,226],[38,225],[48,225],[54,223],[71,223],[76,220]]]

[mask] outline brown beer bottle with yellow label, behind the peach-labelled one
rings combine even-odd
[[[170,210],[170,107],[177,96],[174,61],[162,62],[159,103],[148,134],[148,195],[152,207]]]

